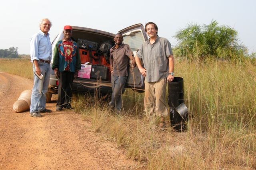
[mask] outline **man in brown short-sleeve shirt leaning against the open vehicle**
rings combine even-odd
[[[110,49],[110,70],[113,92],[109,105],[111,108],[116,107],[117,113],[120,113],[122,109],[122,94],[124,94],[124,86],[128,76],[129,59],[131,60],[132,67],[135,64],[135,59],[129,45],[122,43],[122,34],[117,33],[114,41],[116,45]]]

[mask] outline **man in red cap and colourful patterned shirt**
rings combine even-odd
[[[71,39],[72,27],[64,26],[64,39],[58,41],[54,49],[52,69],[56,78],[58,78],[58,101],[56,111],[62,108],[73,109],[70,104],[72,97],[72,84],[74,78],[78,76],[78,70],[81,69],[81,60],[78,46]]]

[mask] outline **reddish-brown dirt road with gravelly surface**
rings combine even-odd
[[[90,122],[56,103],[52,113],[29,116],[15,113],[12,105],[33,81],[0,72],[0,169],[136,169],[123,151],[90,131]]]

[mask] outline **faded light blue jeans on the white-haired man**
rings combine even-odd
[[[46,103],[46,92],[48,91],[49,81],[50,81],[50,64],[38,61],[38,66],[43,75],[42,80],[40,80],[34,74],[34,86],[31,95],[30,113],[42,111],[45,109]],[[33,71],[35,72],[35,65],[33,63]]]

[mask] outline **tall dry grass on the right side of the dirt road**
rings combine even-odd
[[[107,101],[88,94],[74,96],[73,106],[91,122],[92,131],[125,149],[140,169],[255,169],[256,64],[177,60],[175,75],[184,78],[190,113],[185,133],[170,124],[163,131],[156,120],[148,121],[144,94],[129,89],[120,115]]]

